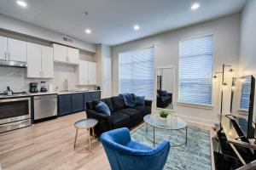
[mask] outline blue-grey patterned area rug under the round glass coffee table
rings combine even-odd
[[[138,128],[131,134],[137,142],[153,147],[153,128],[146,125]],[[171,144],[183,144],[184,137],[181,133],[155,128],[156,141],[170,140]],[[188,144],[171,147],[164,170],[211,170],[211,144],[210,134],[198,127],[188,127]]]

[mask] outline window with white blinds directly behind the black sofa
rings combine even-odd
[[[154,96],[154,48],[119,54],[119,94]]]

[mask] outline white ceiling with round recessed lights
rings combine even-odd
[[[116,45],[241,10],[246,0],[0,0],[0,13],[86,42]],[[192,3],[201,8],[192,11]],[[87,11],[88,17],[84,17]],[[133,26],[141,26],[134,31]],[[91,34],[84,33],[85,28]]]

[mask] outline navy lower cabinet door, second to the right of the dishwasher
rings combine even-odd
[[[72,94],[72,111],[84,111],[84,94]]]

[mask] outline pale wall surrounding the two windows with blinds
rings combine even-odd
[[[143,31],[143,30],[141,30]],[[146,48],[154,45],[155,67],[173,65],[176,71],[176,87],[178,75],[178,46],[179,41],[203,35],[214,35],[214,71],[220,71],[223,63],[236,65],[239,59],[240,42],[240,14],[234,14],[218,20],[211,20],[195,26],[189,26],[175,31],[168,31],[152,37],[146,37],[134,42],[127,42],[112,48],[113,54],[113,95],[119,94],[119,62],[118,55],[121,52],[137,48]],[[229,81],[230,82],[230,78]],[[175,93],[175,114],[183,116],[190,121],[213,124],[218,122],[219,90],[218,82],[213,84],[212,109],[195,108],[177,105],[177,88]],[[224,93],[224,112],[230,108],[230,89]]]

